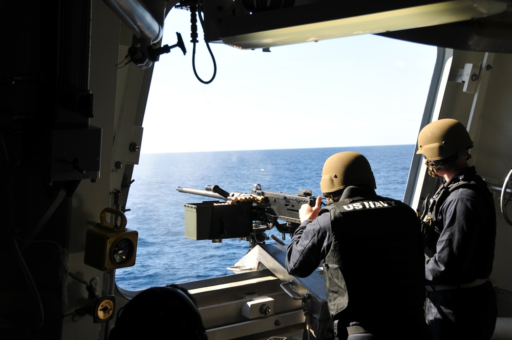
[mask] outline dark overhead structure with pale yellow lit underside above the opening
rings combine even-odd
[[[447,48],[512,52],[510,5],[499,0],[270,0],[259,8],[254,4],[261,2],[205,2],[205,39],[255,49],[380,34]]]

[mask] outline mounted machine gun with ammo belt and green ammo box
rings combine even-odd
[[[264,232],[272,227],[282,233],[283,240],[285,233],[293,235],[301,224],[298,210],[303,204],[314,206],[316,201],[311,190],[289,194],[263,190],[260,184],[254,184],[251,193],[228,193],[218,185],[206,185],[205,190],[186,187],[176,190],[218,200],[183,204],[186,238],[212,242],[245,239],[250,242],[250,248],[264,242]]]

